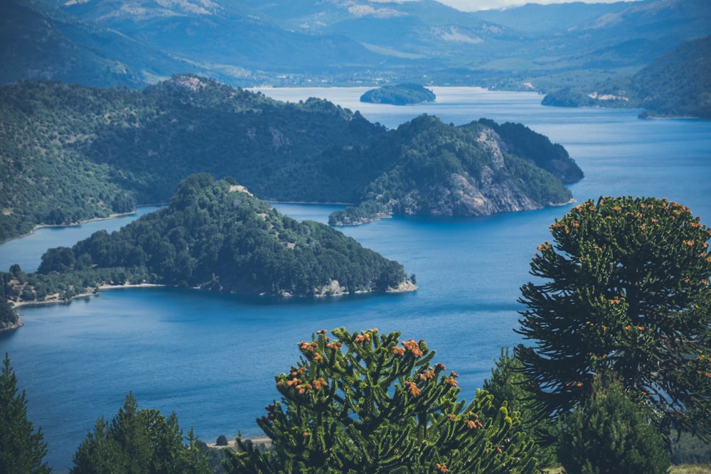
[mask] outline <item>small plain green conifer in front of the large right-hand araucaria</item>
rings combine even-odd
[[[596,375],[592,394],[558,422],[558,461],[568,474],[665,474],[664,440],[619,379]]]

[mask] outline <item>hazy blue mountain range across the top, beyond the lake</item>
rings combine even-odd
[[[633,75],[711,33],[707,0],[527,5],[434,0],[6,0],[0,82],[141,87],[194,72],[229,85],[414,81],[548,90]]]

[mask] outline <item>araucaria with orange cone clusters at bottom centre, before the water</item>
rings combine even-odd
[[[536,446],[518,414],[477,392],[457,399],[457,375],[424,341],[341,328],[299,343],[276,376],[281,402],[257,420],[273,451],[237,438],[230,473],[535,473]]]

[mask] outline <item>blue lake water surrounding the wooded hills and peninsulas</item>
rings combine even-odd
[[[586,177],[579,202],[600,195],[654,195],[688,205],[711,225],[711,122],[642,121],[638,110],[542,107],[530,93],[435,87],[437,102],[408,107],[360,104],[365,89],[264,89],[298,102],[325,97],[396,127],[422,113],[463,124],[481,117],[522,122],[569,151]],[[238,179],[238,177],[237,177]],[[326,222],[332,205],[274,203],[298,220]],[[42,426],[57,472],[95,419],[111,419],[132,391],[140,406],[176,411],[205,441],[237,431],[259,435],[255,418],[278,393],[273,375],[299,358],[297,345],[321,328],[400,330],[424,338],[436,360],[461,375],[471,399],[514,332],[519,287],[535,247],[568,206],[476,218],[395,217],[343,229],[417,276],[415,293],[275,301],[176,289],[122,289],[67,305],[21,308],[23,328],[0,333],[28,416]],[[142,209],[147,212],[150,209]],[[0,269],[36,268],[48,247],[71,245],[135,217],[41,229],[0,245]]]

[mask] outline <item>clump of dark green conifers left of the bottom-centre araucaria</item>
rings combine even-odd
[[[211,474],[193,430],[187,444],[178,417],[154,409],[138,409],[132,394],[109,424],[97,419],[74,454],[72,474]]]

